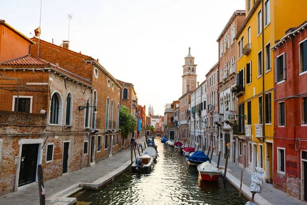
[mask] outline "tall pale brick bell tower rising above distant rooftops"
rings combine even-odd
[[[189,48],[189,54],[185,59],[185,64],[183,67],[182,75],[182,95],[190,90],[196,88],[196,66],[194,64],[194,57],[191,55],[191,48]]]

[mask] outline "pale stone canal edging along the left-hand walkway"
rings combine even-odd
[[[76,204],[77,198],[75,197],[69,197],[77,192],[82,191],[83,189],[90,189],[90,190],[98,190],[105,185],[107,185],[109,182],[112,182],[114,179],[119,177],[121,174],[125,173],[129,168],[131,167],[131,161],[128,160],[124,165],[120,166],[116,170],[106,174],[105,176],[93,181],[93,182],[78,182],[74,185],[63,189],[50,197],[48,197],[46,200],[50,202],[54,202],[54,205],[70,205],[70,204]]]

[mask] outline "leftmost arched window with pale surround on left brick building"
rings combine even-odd
[[[62,99],[59,93],[55,92],[51,97],[50,124],[61,125],[62,121]]]

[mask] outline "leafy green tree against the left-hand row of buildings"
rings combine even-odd
[[[127,138],[130,132],[134,132],[137,126],[136,118],[131,115],[126,106],[119,109],[119,128],[123,138]]]

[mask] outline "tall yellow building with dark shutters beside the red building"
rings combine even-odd
[[[306,8],[306,0],[246,0],[246,19],[235,36],[238,85],[233,92],[238,97],[238,131],[250,138],[244,153],[247,167],[251,171],[255,167],[264,168],[264,177],[270,183],[275,152],[271,47],[287,29],[307,19]]]

